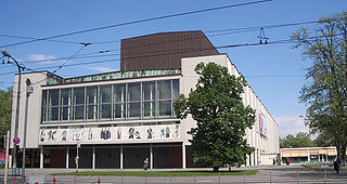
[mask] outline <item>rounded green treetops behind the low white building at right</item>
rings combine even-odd
[[[280,147],[312,147],[316,146],[313,141],[310,139],[309,133],[298,132],[296,136],[288,134],[285,139],[280,140]]]

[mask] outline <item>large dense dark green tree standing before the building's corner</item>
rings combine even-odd
[[[175,103],[178,118],[190,114],[197,124],[188,132],[191,154],[216,172],[227,163],[240,167],[246,154],[254,152],[244,139],[245,129],[255,122],[254,109],[245,107],[241,97],[246,82],[215,63],[200,63],[195,73],[200,76],[195,90],[188,97],[181,94]]]

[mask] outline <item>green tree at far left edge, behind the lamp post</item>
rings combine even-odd
[[[7,135],[11,127],[12,89],[0,90],[0,136]]]

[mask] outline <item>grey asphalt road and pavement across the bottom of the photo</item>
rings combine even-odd
[[[236,169],[236,168],[235,168]],[[206,184],[230,184],[230,183],[347,183],[347,169],[342,169],[337,175],[333,168],[303,168],[300,166],[277,166],[277,167],[246,167],[239,169],[257,169],[259,172],[256,175],[237,175],[237,176],[180,176],[180,178],[159,178],[159,176],[101,176],[100,182],[102,184],[193,184],[193,183],[206,183]],[[188,169],[188,171],[201,171],[206,169]],[[209,169],[211,170],[211,169]],[[33,180],[43,180],[44,184],[53,183],[53,173],[74,172],[74,169],[26,169],[27,183],[31,183]],[[80,169],[80,171],[90,171],[90,169]],[[97,171],[118,171],[116,169],[98,169]],[[124,170],[123,170],[124,171]],[[140,170],[129,170],[140,171]],[[153,171],[183,171],[182,169],[163,170],[156,169]],[[326,172],[325,172],[326,171]],[[0,182],[3,183],[3,170],[1,172]],[[326,178],[325,178],[326,173]],[[98,176],[55,176],[56,184],[98,184]],[[14,183],[14,178],[9,178],[9,184]],[[23,183],[22,178],[16,179],[16,184]]]

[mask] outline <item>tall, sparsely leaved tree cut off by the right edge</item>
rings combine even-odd
[[[345,160],[347,146],[347,12],[320,18],[310,32],[300,28],[292,35],[303,49],[309,82],[300,91],[306,103],[306,124],[312,133],[333,136],[337,155]]]

